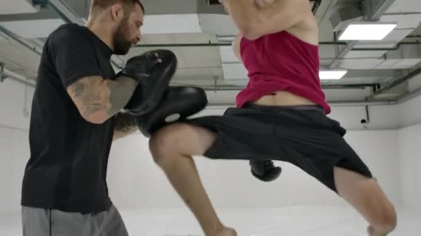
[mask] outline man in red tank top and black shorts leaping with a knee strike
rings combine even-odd
[[[192,159],[287,161],[345,199],[368,221],[370,236],[396,226],[393,204],[343,139],[318,77],[318,28],[308,0],[222,0],[241,32],[233,43],[249,71],[237,107],[223,116],[170,124],[150,150],[206,236],[237,235],[220,221]]]

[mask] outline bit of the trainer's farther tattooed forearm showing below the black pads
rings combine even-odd
[[[114,120],[114,126],[113,141],[131,135],[138,130],[136,117],[128,113],[117,113]]]

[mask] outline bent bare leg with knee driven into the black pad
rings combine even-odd
[[[173,124],[150,139],[154,161],[199,221],[206,236],[235,236],[217,217],[191,155],[203,155],[216,137],[204,128]]]

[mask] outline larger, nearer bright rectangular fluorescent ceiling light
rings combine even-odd
[[[356,22],[350,23],[339,36],[339,40],[382,40],[397,23]]]

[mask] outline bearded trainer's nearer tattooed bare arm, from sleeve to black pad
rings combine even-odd
[[[127,104],[137,83],[129,77],[84,77],[68,86],[67,92],[85,120],[102,124]]]

